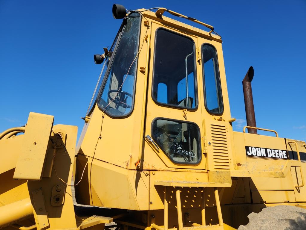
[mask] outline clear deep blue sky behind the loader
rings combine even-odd
[[[121,24],[113,3],[166,7],[213,25],[223,39],[234,130],[245,125],[241,81],[252,65],[257,126],[306,140],[305,0],[0,0],[0,132],[24,125],[33,111],[77,125],[80,134],[102,67],[93,54],[110,47]]]

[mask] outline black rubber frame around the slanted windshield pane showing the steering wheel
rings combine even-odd
[[[137,12],[131,12],[130,14],[132,13],[137,13]],[[141,22],[142,22],[142,15],[140,13],[139,14],[139,28],[138,28],[138,34],[139,34],[139,37],[138,37],[138,44],[137,44],[137,53],[139,52],[139,47],[140,47],[140,32],[141,32]],[[118,36],[118,41],[117,41],[117,44],[114,48],[114,52],[112,54],[113,57],[115,57],[117,51],[118,51],[118,46],[119,46],[119,43],[121,42],[121,38],[122,38],[122,34],[124,32],[124,29],[125,29],[125,26],[126,26],[126,23],[127,23],[127,19],[123,19],[123,22],[121,24],[121,31],[119,32],[119,36]],[[116,39],[116,37],[115,37]],[[105,86],[105,83],[106,83],[106,80],[107,80],[107,77],[108,75],[110,74],[110,69],[113,65],[113,61],[114,61],[114,58],[112,58],[110,60],[110,63],[108,64],[108,67],[106,69],[106,72],[105,72],[105,75],[104,75],[104,78],[103,78],[103,81],[101,83],[101,86],[100,86],[100,89],[99,89],[99,93],[98,93],[98,96],[97,96],[97,99],[96,99],[96,102],[97,102],[97,105],[98,105],[98,108],[103,111],[104,110],[104,107],[102,105],[100,105],[100,97],[102,96],[102,93],[103,93],[103,88]],[[136,58],[135,60],[135,76],[134,76],[134,86],[133,86],[133,97],[132,97],[132,105],[131,105],[131,110],[129,111],[129,113],[125,114],[125,115],[113,115],[113,114],[110,114],[108,113],[106,110],[104,111],[105,114],[107,114],[109,117],[111,118],[115,118],[115,119],[120,119],[120,118],[126,118],[126,117],[129,117],[132,112],[134,111],[134,105],[135,105],[135,94],[136,94],[136,81],[137,81],[137,66],[138,66],[138,57]]]

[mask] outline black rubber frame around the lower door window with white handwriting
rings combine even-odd
[[[170,158],[168,156],[168,154],[164,151],[164,149],[162,148],[162,146],[160,146],[159,142],[155,139],[155,136],[153,135],[153,125],[155,123],[156,120],[166,120],[166,121],[174,121],[174,122],[181,122],[181,123],[187,123],[187,124],[192,124],[192,125],[195,125],[196,128],[198,129],[198,132],[199,132],[199,136],[197,138],[197,141],[198,141],[198,150],[199,150],[199,159],[197,162],[177,162],[175,161],[174,159]],[[151,122],[151,136],[153,138],[153,140],[156,142],[156,144],[159,146],[159,148],[162,150],[163,154],[168,158],[170,159],[170,161],[176,165],[199,165],[202,161],[202,146],[201,146],[201,130],[200,130],[200,127],[195,123],[195,122],[192,122],[192,121],[184,121],[184,120],[177,120],[177,119],[170,119],[170,118],[166,118],[166,117],[155,117],[153,119],[153,121]]]

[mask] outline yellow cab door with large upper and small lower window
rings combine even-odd
[[[206,168],[197,46],[196,36],[151,25],[144,165]]]

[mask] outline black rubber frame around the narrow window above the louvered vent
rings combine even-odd
[[[220,95],[221,95],[221,101],[220,101],[220,105],[222,105],[222,110],[219,113],[215,113],[215,112],[211,112],[208,108],[207,108],[207,102],[206,102],[206,90],[205,90],[205,73],[204,73],[204,54],[203,54],[203,46],[204,45],[209,45],[211,47],[213,47],[215,49],[215,53],[216,53],[216,59],[217,61],[215,62],[215,71],[216,71],[216,75],[218,81],[217,83],[220,84]],[[211,114],[211,115],[222,115],[224,112],[224,104],[223,104],[223,94],[222,94],[222,85],[221,85],[221,79],[220,79],[220,71],[219,71],[219,58],[218,58],[218,52],[217,49],[215,48],[215,46],[213,46],[212,44],[209,43],[203,43],[201,45],[201,59],[202,59],[202,75],[203,75],[203,96],[204,96],[204,107],[206,109],[206,111]]]

